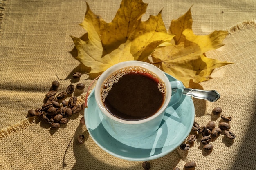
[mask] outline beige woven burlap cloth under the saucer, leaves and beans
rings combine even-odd
[[[88,0],[90,8],[110,22],[120,0]],[[191,83],[192,88],[216,89],[221,98],[214,103],[194,99],[195,121],[219,123],[213,108],[222,107],[232,116],[234,141],[221,134],[213,151],[205,154],[199,140],[189,151],[174,152],[152,161],[152,170],[183,169],[188,161],[197,163],[197,170],[256,169],[256,4],[246,1],[145,0],[144,15],[156,15],[162,8],[166,27],[172,19],[184,14],[191,5],[193,31],[207,34],[215,29],[229,31],[225,46],[209,51],[208,57],[234,62],[213,71],[207,82]],[[76,84],[71,74],[85,73],[74,59],[76,51],[70,35],[82,36],[78,25],[86,10],[84,0],[0,0],[0,170],[142,170],[142,162],[116,158],[99,148],[79,124],[83,112],[73,115],[67,126],[50,130],[37,119],[26,119],[27,111],[43,104],[53,80],[60,90]],[[245,21],[245,22],[244,22]],[[90,78],[94,78],[93,75]],[[83,74],[80,82],[86,87],[91,79]],[[75,91],[74,95],[84,95]],[[84,98],[81,98],[81,102]],[[79,145],[77,137],[86,137]]]

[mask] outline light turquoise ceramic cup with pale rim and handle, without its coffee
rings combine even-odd
[[[108,112],[107,108],[103,104],[101,94],[101,88],[104,85],[103,83],[106,82],[105,80],[108,79],[110,75],[127,67],[145,68],[146,70],[157,75],[157,77],[161,79],[161,81],[165,84],[164,102],[162,106],[158,109],[158,111],[150,117],[136,121],[120,119],[112,115],[110,112]],[[175,90],[175,94],[172,95],[173,90]],[[115,64],[114,66],[108,68],[106,71],[102,73],[95,87],[95,100],[97,106],[99,107],[103,115],[104,121],[102,123],[106,130],[115,132],[121,138],[129,140],[139,140],[149,137],[150,135],[153,135],[157,131],[164,117],[166,108],[179,102],[183,90],[184,86],[182,82],[178,80],[170,82],[166,77],[165,73],[153,64],[141,61],[126,61]]]

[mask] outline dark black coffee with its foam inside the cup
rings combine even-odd
[[[141,120],[154,115],[165,99],[165,85],[142,67],[123,68],[113,73],[101,88],[108,112],[124,120]]]

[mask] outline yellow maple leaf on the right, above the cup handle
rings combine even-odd
[[[188,87],[191,79],[195,83],[209,80],[213,69],[231,64],[205,55],[205,52],[223,46],[227,31],[194,35],[190,9],[177,20],[172,20],[169,33],[176,34],[175,43],[159,46],[152,54],[152,64],[181,80],[184,86]]]

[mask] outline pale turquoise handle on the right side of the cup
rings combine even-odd
[[[172,90],[176,90],[176,92],[171,96],[171,100],[168,104],[168,107],[180,101],[182,92],[184,91],[184,88],[185,88],[183,83],[179,80],[171,81],[170,84],[171,84]]]

